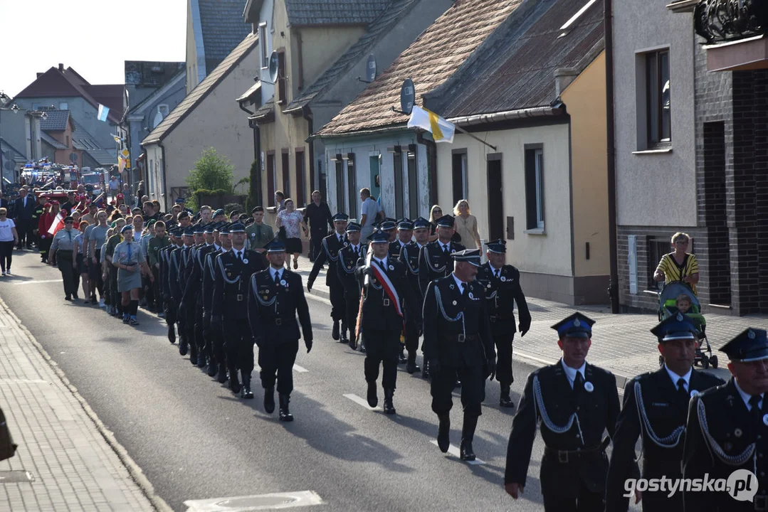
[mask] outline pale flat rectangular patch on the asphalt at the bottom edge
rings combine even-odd
[[[250,510],[276,510],[279,508],[323,505],[323,498],[315,491],[295,493],[257,494],[254,496],[218,497],[209,500],[187,500],[187,512],[250,512]]]

